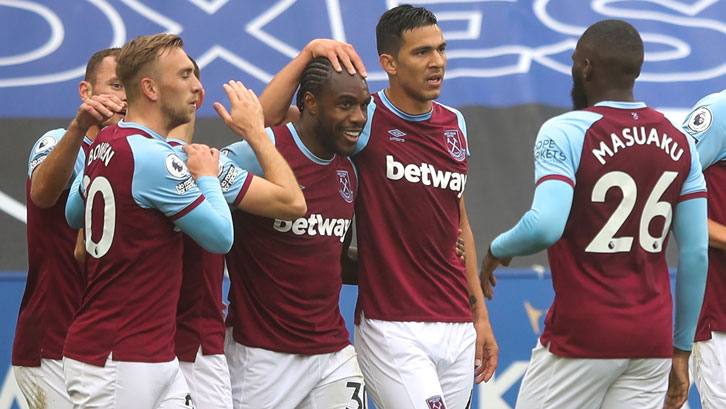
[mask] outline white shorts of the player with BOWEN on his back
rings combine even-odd
[[[114,361],[105,366],[63,358],[66,388],[75,409],[194,407],[176,358],[169,362]]]

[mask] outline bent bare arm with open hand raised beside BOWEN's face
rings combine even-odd
[[[307,211],[305,197],[292,169],[275,149],[264,129],[262,106],[257,96],[239,81],[224,84],[230,112],[216,102],[214,109],[254,152],[264,174],[252,178],[238,207],[260,216],[294,220]]]

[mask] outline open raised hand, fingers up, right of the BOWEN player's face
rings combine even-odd
[[[264,134],[265,117],[254,91],[245,88],[240,81],[230,81],[222,87],[229,98],[230,112],[219,102],[214,103],[214,109],[224,123],[248,141]]]

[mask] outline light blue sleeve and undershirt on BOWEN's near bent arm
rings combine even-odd
[[[232,217],[217,178],[202,177],[207,181],[196,183],[185,162],[164,141],[132,135],[128,142],[134,155],[131,192],[136,203],[162,212],[206,250],[228,252],[234,240]]]

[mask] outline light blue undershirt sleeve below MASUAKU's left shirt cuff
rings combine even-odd
[[[537,253],[562,237],[570,217],[574,188],[558,179],[545,180],[534,190],[532,208],[491,244],[492,255],[509,258]]]

